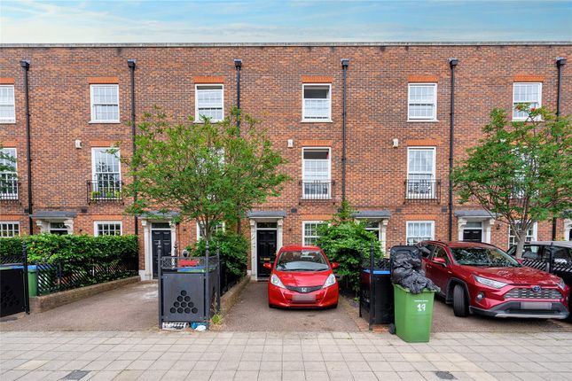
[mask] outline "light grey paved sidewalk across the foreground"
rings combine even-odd
[[[571,347],[569,332],[408,344],[370,332],[4,331],[0,379],[557,381],[572,379]]]

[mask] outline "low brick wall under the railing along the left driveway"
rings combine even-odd
[[[105,284],[93,284],[86,287],[76,288],[74,290],[30,298],[30,311],[32,313],[40,313],[80,299],[89,298],[90,296],[96,295],[100,292],[114,290],[126,284],[137,283],[140,280],[141,278],[139,276],[131,276],[125,279],[106,282]]]

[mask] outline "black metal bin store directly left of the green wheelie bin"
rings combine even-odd
[[[371,260],[360,272],[359,315],[373,324],[393,323],[393,284],[389,259]],[[371,276],[373,274],[373,276]]]

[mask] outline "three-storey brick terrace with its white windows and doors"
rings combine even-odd
[[[243,222],[253,276],[281,245],[312,244],[342,191],[386,248],[449,237],[507,248],[505,224],[450,206],[450,147],[463,158],[493,107],[513,119],[516,102],[556,109],[559,71],[560,113],[572,113],[571,56],[572,43],[558,42],[0,45],[0,145],[17,158],[17,174],[1,174],[14,180],[0,195],[0,237],[137,232],[140,274],[152,277],[157,247],[191,244],[197,225],[156,214],[136,227],[123,213],[126,168],[106,149],[121,142],[130,155],[128,122],[153,105],[216,121],[239,101],[294,179]],[[571,226],[559,220],[556,237],[569,239]],[[529,232],[551,237],[552,222]]]

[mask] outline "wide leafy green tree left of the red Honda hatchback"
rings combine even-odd
[[[210,240],[216,223],[238,221],[269,196],[278,196],[288,178],[279,171],[285,160],[259,125],[236,108],[220,123],[172,121],[157,107],[145,113],[137,150],[132,159],[123,159],[133,178],[125,191],[137,192],[128,212],[178,212],[177,222],[197,220]]]

